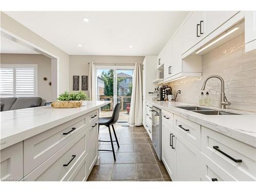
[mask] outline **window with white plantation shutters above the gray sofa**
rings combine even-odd
[[[1,64],[0,95],[1,97],[37,96],[37,65]]]

